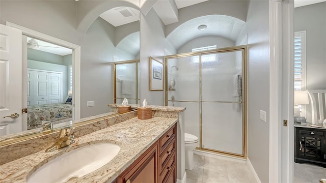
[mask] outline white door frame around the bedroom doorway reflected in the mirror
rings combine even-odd
[[[22,36],[30,36],[36,39],[41,39],[47,42],[51,42],[53,44],[57,44],[63,47],[67,47],[72,49],[72,69],[73,69],[73,78],[72,78],[72,98],[73,98],[73,106],[72,106],[72,119],[80,119],[80,46],[75,45],[73,43],[61,40],[59,38],[55,38],[37,31],[34,31],[30,28],[26,28],[11,22],[6,22],[6,25],[9,27],[17,28],[22,32]],[[23,50],[24,52],[24,50]],[[27,57],[22,56],[22,64],[24,66],[24,62],[27,62]],[[25,64],[26,65],[26,64]],[[23,76],[26,77],[26,76]],[[23,79],[24,80],[24,79]],[[22,88],[22,94],[26,94],[26,88]],[[24,99],[24,98],[23,98]],[[22,101],[22,105],[27,107],[27,101]],[[27,118],[25,119],[27,123]],[[23,121],[24,122],[24,121]]]

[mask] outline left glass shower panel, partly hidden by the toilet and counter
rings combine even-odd
[[[199,55],[167,60],[168,106],[182,106],[185,110],[185,133],[200,137],[200,71]]]

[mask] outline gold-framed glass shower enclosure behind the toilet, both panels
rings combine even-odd
[[[184,106],[197,149],[247,157],[247,46],[165,58],[165,105]]]

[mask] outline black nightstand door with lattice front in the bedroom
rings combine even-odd
[[[297,158],[305,158],[326,162],[325,157],[325,137],[319,135],[297,134]]]

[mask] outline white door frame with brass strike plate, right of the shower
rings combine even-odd
[[[293,0],[269,0],[269,182],[293,182],[293,12]]]

